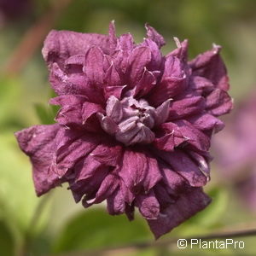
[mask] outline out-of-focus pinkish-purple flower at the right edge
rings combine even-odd
[[[256,91],[236,108],[224,132],[213,140],[224,181],[233,183],[245,205],[256,212]]]

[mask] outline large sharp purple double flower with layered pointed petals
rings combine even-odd
[[[164,38],[146,29],[141,44],[117,38],[113,22],[108,35],[50,32],[43,55],[57,124],[16,137],[38,195],[67,182],[84,207],[107,200],[129,219],[137,207],[158,238],[210,202],[210,139],[232,102],[219,46],[188,62],[187,40],[163,56]]]

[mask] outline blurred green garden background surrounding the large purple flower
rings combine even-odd
[[[19,8],[15,1],[13,8]],[[86,255],[71,252],[140,241],[154,244],[139,216],[129,223],[124,216],[108,216],[104,206],[84,210],[74,203],[66,187],[38,199],[29,160],[20,152],[13,135],[30,125],[53,122],[55,110],[48,105],[52,91],[41,55],[47,32],[55,28],[107,33],[110,20],[115,20],[118,34],[131,32],[137,42],[143,40],[144,24],[148,22],[166,38],[165,54],[173,49],[174,36],[189,39],[190,58],[210,49],[212,43],[220,44],[235,102],[245,100],[256,86],[254,0],[34,0],[23,15],[13,16],[4,15],[0,3],[1,256]],[[256,227],[255,214],[242,207],[232,186],[215,171],[213,164],[212,181],[206,188],[213,199],[211,206],[163,239]],[[245,241],[246,247],[191,251],[179,250],[173,243],[96,255],[256,255],[255,236],[236,240]]]

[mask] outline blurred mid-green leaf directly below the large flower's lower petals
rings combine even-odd
[[[110,216],[102,208],[79,213],[55,240],[53,252],[111,247],[152,239],[143,218],[130,222],[124,215]]]

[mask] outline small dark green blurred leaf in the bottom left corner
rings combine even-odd
[[[6,256],[13,256],[15,253],[15,240],[3,220],[0,220],[0,252]]]

